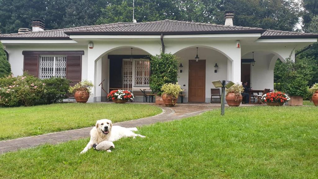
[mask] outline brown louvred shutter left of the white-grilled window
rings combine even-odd
[[[38,77],[38,55],[24,55],[23,71]]]

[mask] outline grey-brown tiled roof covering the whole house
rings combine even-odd
[[[39,32],[0,34],[0,39],[69,39],[70,34],[213,34],[213,33],[262,33],[261,38],[318,38],[318,34],[264,30],[257,27],[240,27],[196,23],[176,20],[162,20],[140,23],[112,23],[89,25]]]

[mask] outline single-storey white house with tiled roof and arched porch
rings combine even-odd
[[[66,77],[73,84],[91,80],[94,102],[106,100],[99,86],[104,79],[107,92],[137,89],[135,100],[142,101],[139,89],[149,89],[148,55],[175,54],[183,66],[178,82],[185,89],[184,101],[210,102],[215,80],[248,81],[253,89],[273,89],[276,60],[294,59],[295,50],[318,38],[313,33],[233,26],[232,14],[225,18],[227,25],[166,19],[57,30],[44,30],[44,23],[35,19],[32,30],[2,34],[0,41],[14,75],[26,70],[39,78]]]

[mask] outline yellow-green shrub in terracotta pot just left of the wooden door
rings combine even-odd
[[[181,86],[177,82],[176,84],[166,83],[162,85],[161,90],[163,104],[169,107],[176,104],[179,92],[183,91],[183,89],[181,89]]]

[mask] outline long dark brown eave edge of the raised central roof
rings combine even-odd
[[[264,33],[266,30],[227,30],[227,31],[180,31],[180,32],[64,32],[66,35],[193,35],[193,34],[229,34],[229,33]]]

